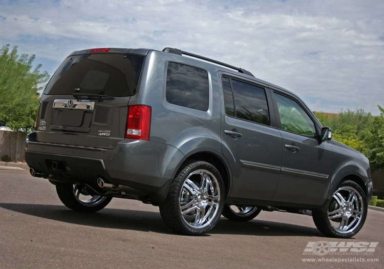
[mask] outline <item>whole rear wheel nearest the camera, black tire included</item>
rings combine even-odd
[[[214,165],[190,162],[175,177],[160,214],[166,225],[184,235],[203,235],[220,218],[224,206],[224,183]]]

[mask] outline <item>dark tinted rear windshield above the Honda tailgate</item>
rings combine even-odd
[[[57,69],[44,93],[133,95],[137,90],[144,58],[132,54],[87,54],[68,57]]]

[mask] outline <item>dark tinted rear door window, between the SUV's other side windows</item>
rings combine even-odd
[[[223,77],[222,80],[225,112],[228,116],[264,125],[270,124],[267,98],[263,88],[226,77]]]

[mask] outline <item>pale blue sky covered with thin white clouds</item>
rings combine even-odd
[[[0,46],[52,74],[97,47],[179,48],[249,70],[313,111],[384,107],[382,0],[0,0]]]

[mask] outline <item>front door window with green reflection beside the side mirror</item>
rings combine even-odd
[[[274,96],[278,104],[283,130],[311,137],[316,136],[313,121],[297,102],[277,93]]]

